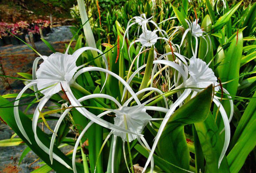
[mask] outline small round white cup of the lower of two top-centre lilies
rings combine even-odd
[[[156,32],[146,30],[140,35],[139,41],[142,46],[151,47],[157,42],[157,39],[159,39],[159,37],[156,35]]]

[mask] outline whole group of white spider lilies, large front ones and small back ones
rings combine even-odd
[[[156,22],[154,22],[152,20],[152,18],[153,17],[147,19],[145,14],[133,17],[128,22],[127,28],[125,30],[124,38],[125,38],[125,36],[127,36],[127,38],[129,38],[128,31],[129,31],[129,28],[132,27],[132,25],[138,24],[142,28],[142,33],[140,34],[139,38],[131,43],[131,45],[132,45],[134,43],[140,42],[140,44],[141,44],[140,52],[142,51],[143,48],[154,46],[155,43],[157,42],[157,40],[159,40],[159,39],[163,39],[164,41],[169,43],[170,38],[168,37],[168,34],[164,30],[160,29],[158,27],[158,25],[156,24]],[[170,19],[173,19],[173,18],[170,18]],[[169,20],[169,19],[167,19],[167,20]],[[152,23],[156,27],[156,29],[153,31],[149,30],[148,22]],[[56,133],[60,127],[60,123],[63,121],[64,117],[68,114],[68,112],[72,108],[75,108],[82,115],[84,115],[86,118],[91,120],[91,122],[88,123],[88,125],[84,128],[84,130],[81,132],[81,134],[79,135],[79,137],[76,141],[76,145],[75,145],[73,157],[72,157],[72,167],[73,167],[74,172],[76,172],[75,159],[76,159],[77,147],[78,147],[79,142],[80,142],[81,138],[83,137],[84,133],[92,125],[92,123],[97,123],[97,124],[111,130],[108,137],[106,138],[106,140],[108,140],[108,138],[112,134],[114,136],[114,142],[113,142],[113,146],[112,146],[113,147],[112,148],[112,172],[114,172],[113,164],[114,164],[114,155],[115,155],[116,138],[117,137],[122,138],[123,145],[125,142],[131,142],[135,139],[138,139],[139,143],[142,146],[144,146],[145,148],[147,148],[148,151],[150,151],[149,157],[148,157],[146,165],[143,169],[143,172],[147,169],[148,164],[150,162],[151,162],[151,172],[153,172],[153,168],[154,168],[153,153],[156,149],[157,143],[161,137],[161,134],[164,130],[164,127],[165,127],[168,119],[171,117],[171,115],[176,110],[176,108],[178,106],[182,105],[183,101],[186,98],[188,98],[188,96],[191,93],[192,93],[191,98],[195,97],[197,92],[200,92],[201,90],[203,90],[204,88],[208,87],[211,84],[213,86],[215,86],[216,92],[218,90],[220,90],[219,83],[217,82],[217,78],[214,75],[214,72],[212,71],[212,69],[209,68],[208,67],[209,65],[207,65],[202,59],[199,59],[196,56],[197,38],[198,37],[204,38],[204,36],[203,36],[204,31],[201,29],[201,27],[197,23],[197,21],[193,21],[192,23],[188,22],[188,26],[189,26],[189,28],[187,30],[185,30],[184,35],[182,36],[180,46],[182,45],[187,33],[191,32],[191,35],[196,38],[195,50],[193,50],[193,48],[192,48],[193,57],[187,58],[187,57],[181,55],[180,51],[179,51],[180,46],[177,44],[171,43],[174,47],[176,46],[175,47],[176,51],[174,50],[174,52],[165,53],[165,54],[159,56],[158,58],[157,58],[157,54],[155,54],[156,60],[153,61],[153,64],[155,66],[152,70],[152,75],[151,75],[152,76],[151,87],[142,89],[142,90],[138,91],[137,93],[135,93],[132,90],[132,88],[129,84],[132,82],[132,79],[135,76],[135,74],[139,73],[139,71],[142,70],[143,68],[145,68],[146,65],[139,67],[138,66],[139,64],[137,63],[137,70],[129,77],[129,80],[126,82],[126,81],[124,81],[123,78],[121,78],[120,76],[118,76],[115,73],[108,70],[108,62],[107,62],[105,55],[102,55],[102,58],[105,62],[106,69],[100,68],[100,67],[84,67],[83,65],[79,66],[79,67],[76,66],[76,60],[84,51],[93,50],[93,51],[98,51],[99,53],[102,54],[102,52],[100,50],[95,49],[95,48],[84,47],[84,48],[78,49],[72,55],[68,55],[68,53],[67,53],[68,51],[66,51],[65,54],[53,53],[49,57],[46,57],[46,56],[38,57],[35,60],[34,65],[33,65],[33,67],[34,67],[33,72],[35,72],[33,74],[34,79],[30,80],[30,83],[28,83],[23,88],[23,90],[21,90],[21,92],[19,93],[19,95],[16,98],[17,101],[14,104],[16,106],[16,107],[14,107],[15,120],[18,124],[18,127],[19,127],[21,133],[28,140],[28,142],[30,142],[30,139],[20,121],[18,105],[19,105],[19,99],[20,99],[21,95],[31,86],[35,86],[34,87],[35,91],[39,90],[44,95],[44,97],[39,100],[39,104],[36,107],[36,110],[34,112],[34,116],[33,116],[33,132],[35,134],[34,137],[36,139],[36,143],[46,153],[49,153],[51,162],[53,161],[53,159],[55,159],[55,160],[59,161],[60,163],[62,163],[63,165],[65,165],[67,168],[72,169],[58,155],[53,153],[53,145],[54,145],[54,141],[56,138]],[[159,37],[157,35],[157,32],[161,33],[162,37]],[[138,31],[138,34],[139,34],[139,31]],[[131,45],[130,45],[130,47],[131,47]],[[130,47],[129,47],[129,51],[130,51]],[[174,61],[169,61],[167,58],[168,55],[173,55],[173,56],[175,55],[177,58]],[[130,57],[130,53],[129,53],[129,57]],[[41,63],[39,69],[37,69],[37,71],[36,71],[36,66],[40,59],[43,59],[44,61],[43,61],[43,63]],[[130,57],[130,59],[131,59],[131,57]],[[187,60],[188,60],[188,62],[187,62]],[[172,67],[173,69],[175,69],[175,73],[178,73],[177,78],[174,81],[174,83],[175,83],[174,89],[185,88],[185,90],[180,93],[178,99],[171,106],[168,105],[167,100],[163,95],[163,92],[157,88],[152,87],[153,86],[152,85],[153,76],[155,74],[156,65],[159,65],[159,64],[163,64],[165,66]],[[124,85],[124,92],[122,95],[123,98],[124,98],[126,91],[129,91],[129,93],[131,94],[132,97],[129,98],[128,100],[126,100],[124,102],[124,104],[121,104],[115,98],[113,98],[112,96],[106,95],[106,94],[91,94],[91,95],[76,99],[72,93],[70,85],[76,84],[76,82],[75,82],[76,78],[79,75],[81,75],[85,72],[89,72],[89,71],[100,71],[100,72],[106,73],[106,80],[107,80],[107,75],[111,75],[111,76],[115,77]],[[105,81],[105,83],[106,83],[106,81]],[[70,105],[61,114],[61,116],[56,124],[56,127],[54,129],[54,133],[52,134],[50,148],[48,148],[40,141],[40,139],[38,138],[38,136],[36,134],[37,122],[39,119],[40,111],[43,109],[44,105],[54,94],[60,92],[61,90],[63,92],[65,92]],[[141,103],[140,99],[137,97],[137,95],[144,93],[146,91],[155,91],[155,92],[161,94],[162,97],[164,98],[165,107],[145,106],[148,102],[151,101],[151,99],[149,99],[148,101],[146,101],[144,103]],[[223,89],[223,91],[227,95],[229,95],[227,90]],[[228,96],[228,97],[230,97],[230,96]],[[84,100],[91,99],[91,98],[109,99],[109,100],[113,101],[117,105],[118,108],[117,109],[108,109],[107,111],[96,116],[96,115],[92,114],[91,112],[89,112],[87,109],[85,109],[81,104],[81,102],[83,102]],[[232,102],[232,99],[230,99],[230,107],[231,107],[230,112],[231,113],[230,113],[230,116],[228,119],[228,116],[227,116],[223,106],[221,105],[219,99],[220,99],[219,97],[213,95],[213,102],[220,108],[220,113],[221,113],[221,116],[222,116],[222,119],[223,119],[223,122],[225,125],[225,143],[224,143],[222,153],[220,155],[220,160],[219,160],[219,165],[220,165],[220,163],[225,155],[225,152],[227,151],[227,147],[228,147],[229,140],[230,140],[229,122],[231,121],[231,118],[233,116],[233,102]],[[136,102],[135,106],[129,106],[129,104],[131,103],[132,100],[134,100]],[[66,103],[66,105],[68,105],[68,103]],[[152,118],[146,112],[147,110],[164,112],[164,113],[166,113],[166,115],[165,115],[164,119]],[[111,112],[113,112],[115,114],[114,124],[101,119],[102,116],[109,114]],[[148,145],[147,141],[145,140],[145,138],[143,137],[142,132],[143,132],[145,126],[148,123],[150,124],[150,121],[155,121],[155,120],[157,120],[157,121],[162,120],[162,122],[161,122],[160,128],[157,132],[156,138],[154,140],[154,144],[152,147],[150,147]],[[124,156],[125,156],[125,154],[124,154]]]

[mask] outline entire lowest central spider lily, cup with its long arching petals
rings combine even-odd
[[[100,68],[98,68],[98,67],[94,67],[93,69],[94,70],[100,70]],[[103,71],[106,72],[105,69]],[[114,75],[112,72],[108,71],[108,73],[110,75]],[[124,84],[124,86],[126,88],[128,88],[128,90],[132,90],[130,88],[130,86],[124,80],[122,80],[122,78],[118,77],[117,75],[114,75],[114,77],[116,77],[119,80],[121,79],[120,81]],[[165,113],[168,111],[168,103],[167,103],[166,98],[164,97],[164,95],[162,95],[162,97],[165,100],[165,108],[155,107],[155,106],[145,106],[145,104],[147,104],[149,101],[151,101],[150,99],[148,101],[144,102],[143,104],[138,102],[137,95],[142,93],[142,92],[150,91],[150,90],[154,90],[154,91],[158,92],[159,94],[163,94],[163,92],[161,90],[159,90],[159,89],[156,89],[156,88],[145,88],[145,89],[140,90],[139,92],[137,92],[135,95],[133,93],[131,93],[132,97],[129,98],[123,104],[123,106],[115,98],[113,98],[113,97],[111,97],[109,95],[106,95],[106,94],[91,94],[91,95],[84,96],[84,97],[78,99],[78,102],[82,102],[82,101],[90,99],[90,98],[107,98],[107,99],[113,101],[118,106],[118,109],[116,109],[116,110],[109,109],[108,111],[105,111],[105,112],[99,114],[98,117],[100,118],[100,117],[102,117],[102,116],[104,116],[104,115],[106,115],[108,113],[114,112],[116,114],[116,117],[114,118],[114,122],[115,122],[116,125],[118,125],[120,127],[124,127],[124,128],[125,128],[125,125],[127,125],[126,127],[127,127],[128,130],[131,130],[134,133],[140,134],[142,132],[142,130],[144,129],[145,125],[149,121],[159,120],[159,119],[156,119],[156,118],[152,119],[146,113],[146,110],[162,111],[162,112],[165,112]],[[132,101],[133,98],[135,100],[137,100],[136,102],[137,102],[138,105],[137,106],[129,107],[128,104]],[[64,117],[72,109],[72,106],[73,105],[69,106],[68,109],[66,109],[63,112],[63,114],[60,116],[60,118],[59,118],[59,120],[58,120],[58,122],[57,122],[57,124],[55,126],[54,133],[52,134],[52,139],[51,139],[51,144],[50,144],[50,151],[49,151],[49,155],[50,155],[50,160],[51,161],[52,161],[53,144],[54,144],[54,141],[55,141],[55,138],[56,138],[56,133],[57,133],[57,131],[58,131],[59,127],[60,127],[60,124],[63,121]],[[84,128],[84,130],[81,132],[81,134],[79,135],[79,137],[78,137],[78,139],[76,141],[76,145],[75,145],[74,152],[73,152],[73,158],[72,158],[72,165],[73,165],[74,172],[76,172],[75,158],[76,158],[77,147],[78,147],[79,142],[80,142],[81,138],[83,137],[84,133],[92,125],[92,123],[93,123],[92,121],[88,123],[88,125]],[[111,134],[114,134],[115,140],[116,140],[116,137],[119,136],[119,137],[121,137],[123,139],[123,143],[125,141],[127,141],[127,138],[126,138],[126,134],[127,133],[126,132],[121,132],[119,130],[111,130],[111,132],[108,135],[108,137],[106,138],[106,140],[108,140],[108,138],[110,137]],[[128,138],[129,138],[129,142],[131,142],[132,140],[134,140],[136,138],[139,140],[139,142],[140,142],[140,140],[143,141],[142,142],[143,146],[146,146],[146,148],[148,150],[150,150],[149,145],[147,144],[147,142],[145,141],[143,136],[139,136],[139,135],[132,135],[131,136],[128,133]],[[115,148],[115,145],[113,146],[113,148]],[[114,156],[114,154],[112,154],[112,156]],[[154,161],[153,161],[153,159],[151,159],[151,168],[152,168],[152,171],[153,171],[153,168],[154,168]],[[113,172],[113,169],[114,169],[114,167],[112,168],[112,172]]]

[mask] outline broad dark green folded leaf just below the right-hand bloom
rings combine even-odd
[[[212,85],[181,106],[168,120],[158,143],[162,158],[183,169],[189,169],[189,150],[184,126],[203,122],[212,102]]]

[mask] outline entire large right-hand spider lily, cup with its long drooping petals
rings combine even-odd
[[[164,56],[167,56],[167,55],[170,55],[172,54],[171,52],[169,53],[166,53],[164,55],[162,55],[160,57],[163,58]],[[161,126],[158,130],[158,133],[156,135],[156,138],[155,138],[155,141],[154,141],[154,144],[152,146],[152,149],[151,149],[151,152],[149,154],[149,157],[148,157],[148,160],[146,162],[146,165],[144,167],[144,170],[142,172],[144,172],[147,167],[148,167],[148,164],[151,160],[151,158],[153,157],[153,153],[156,149],[156,146],[157,146],[157,143],[161,137],[161,134],[164,130],[164,127],[166,125],[166,123],[168,122],[168,119],[170,118],[170,116],[174,113],[174,111],[176,110],[176,108],[182,104],[182,102],[190,95],[190,93],[193,91],[193,94],[192,94],[192,97],[194,97],[196,95],[196,93],[198,91],[201,91],[202,89],[208,87],[209,85],[218,85],[219,83],[217,82],[217,78],[216,76],[214,75],[213,71],[211,68],[208,67],[208,65],[202,60],[202,59],[198,59],[198,58],[194,58],[192,57],[190,60],[189,60],[189,66],[187,65],[185,59],[188,59],[188,58],[185,58],[184,56],[178,54],[178,53],[174,53],[178,58],[179,60],[178,61],[182,61],[183,62],[183,68],[181,66],[179,66],[178,64],[172,62],[172,61],[167,61],[167,60],[155,60],[153,61],[154,64],[164,64],[164,65],[168,65],[172,68],[174,68],[176,71],[178,71],[182,77],[182,84],[180,84],[179,86],[177,86],[176,88],[174,88],[174,90],[177,90],[177,89],[181,89],[181,88],[192,88],[192,89],[185,89],[184,92],[180,95],[180,97],[173,103],[173,105],[170,107],[168,113],[165,115],[164,117],[164,120],[163,122],[161,123]],[[146,65],[144,66],[141,66],[140,68],[138,68],[132,75],[131,77],[128,79],[128,83],[130,83],[133,79],[133,77],[135,76],[134,74],[138,73],[142,68],[146,67]],[[154,74],[154,70],[153,70],[153,74]],[[154,76],[154,75],[151,75],[151,76]],[[194,88],[196,87],[196,88]],[[215,87],[215,91],[218,91],[219,90],[219,87]],[[223,91],[229,95],[228,91],[223,89]],[[124,93],[123,95],[125,94],[126,90],[124,89]],[[219,97],[217,96],[214,96],[214,103],[220,108],[221,108],[221,103],[219,102],[218,99],[220,99]],[[231,107],[231,111],[230,111],[230,116],[229,116],[229,119],[228,119],[228,116],[225,112],[224,109],[221,108],[221,111],[220,111],[220,114],[222,116],[222,119],[223,119],[223,122],[224,122],[224,129],[225,129],[225,143],[224,143],[224,146],[223,146],[223,149],[222,149],[222,152],[221,152],[221,155],[220,155],[220,159],[219,159],[219,166],[220,166],[220,163],[227,151],[227,148],[228,148],[228,144],[229,144],[229,141],[230,141],[230,126],[229,126],[229,122],[231,121],[232,119],[232,116],[233,116],[233,113],[234,113],[234,108],[233,108],[233,101],[231,99],[230,96],[228,96],[228,98],[230,98],[230,107]],[[222,106],[223,107],[223,106]],[[223,131],[223,130],[222,130]],[[221,131],[221,132],[222,132]],[[220,133],[221,133],[220,132]]]

